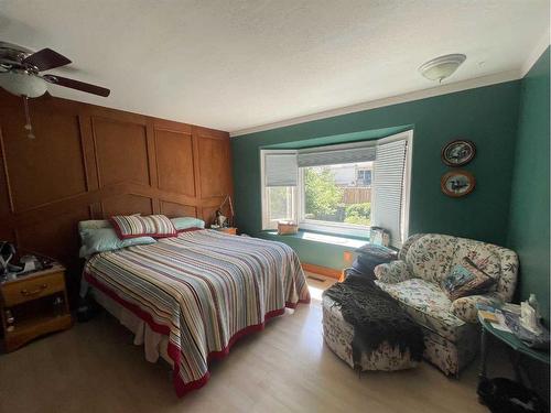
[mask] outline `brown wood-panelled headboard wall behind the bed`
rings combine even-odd
[[[233,193],[226,132],[0,89],[0,240],[65,263],[78,276],[77,222],[116,214],[210,222]]]

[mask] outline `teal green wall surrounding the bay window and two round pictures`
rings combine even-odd
[[[412,126],[410,232],[434,231],[505,244],[519,96],[520,81],[509,81],[231,139],[239,229],[262,236],[261,146]],[[440,177],[450,170],[440,153],[455,138],[469,139],[477,146],[476,157],[465,166],[475,175],[477,187],[457,199],[440,189]],[[301,242],[293,247],[304,262],[342,268],[337,257],[326,254],[326,247]]]

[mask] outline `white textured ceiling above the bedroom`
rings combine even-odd
[[[548,0],[0,0],[0,41],[69,57],[60,75],[109,98],[54,96],[226,131],[520,70],[549,34]]]

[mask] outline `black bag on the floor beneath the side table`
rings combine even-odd
[[[549,412],[548,404],[534,391],[509,379],[484,379],[477,393],[491,413]]]

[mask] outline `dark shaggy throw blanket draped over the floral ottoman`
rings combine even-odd
[[[343,318],[354,326],[353,360],[359,366],[361,354],[368,356],[383,343],[410,351],[412,360],[420,361],[423,333],[389,294],[372,281],[348,276],[325,290],[324,295],[341,306]]]

